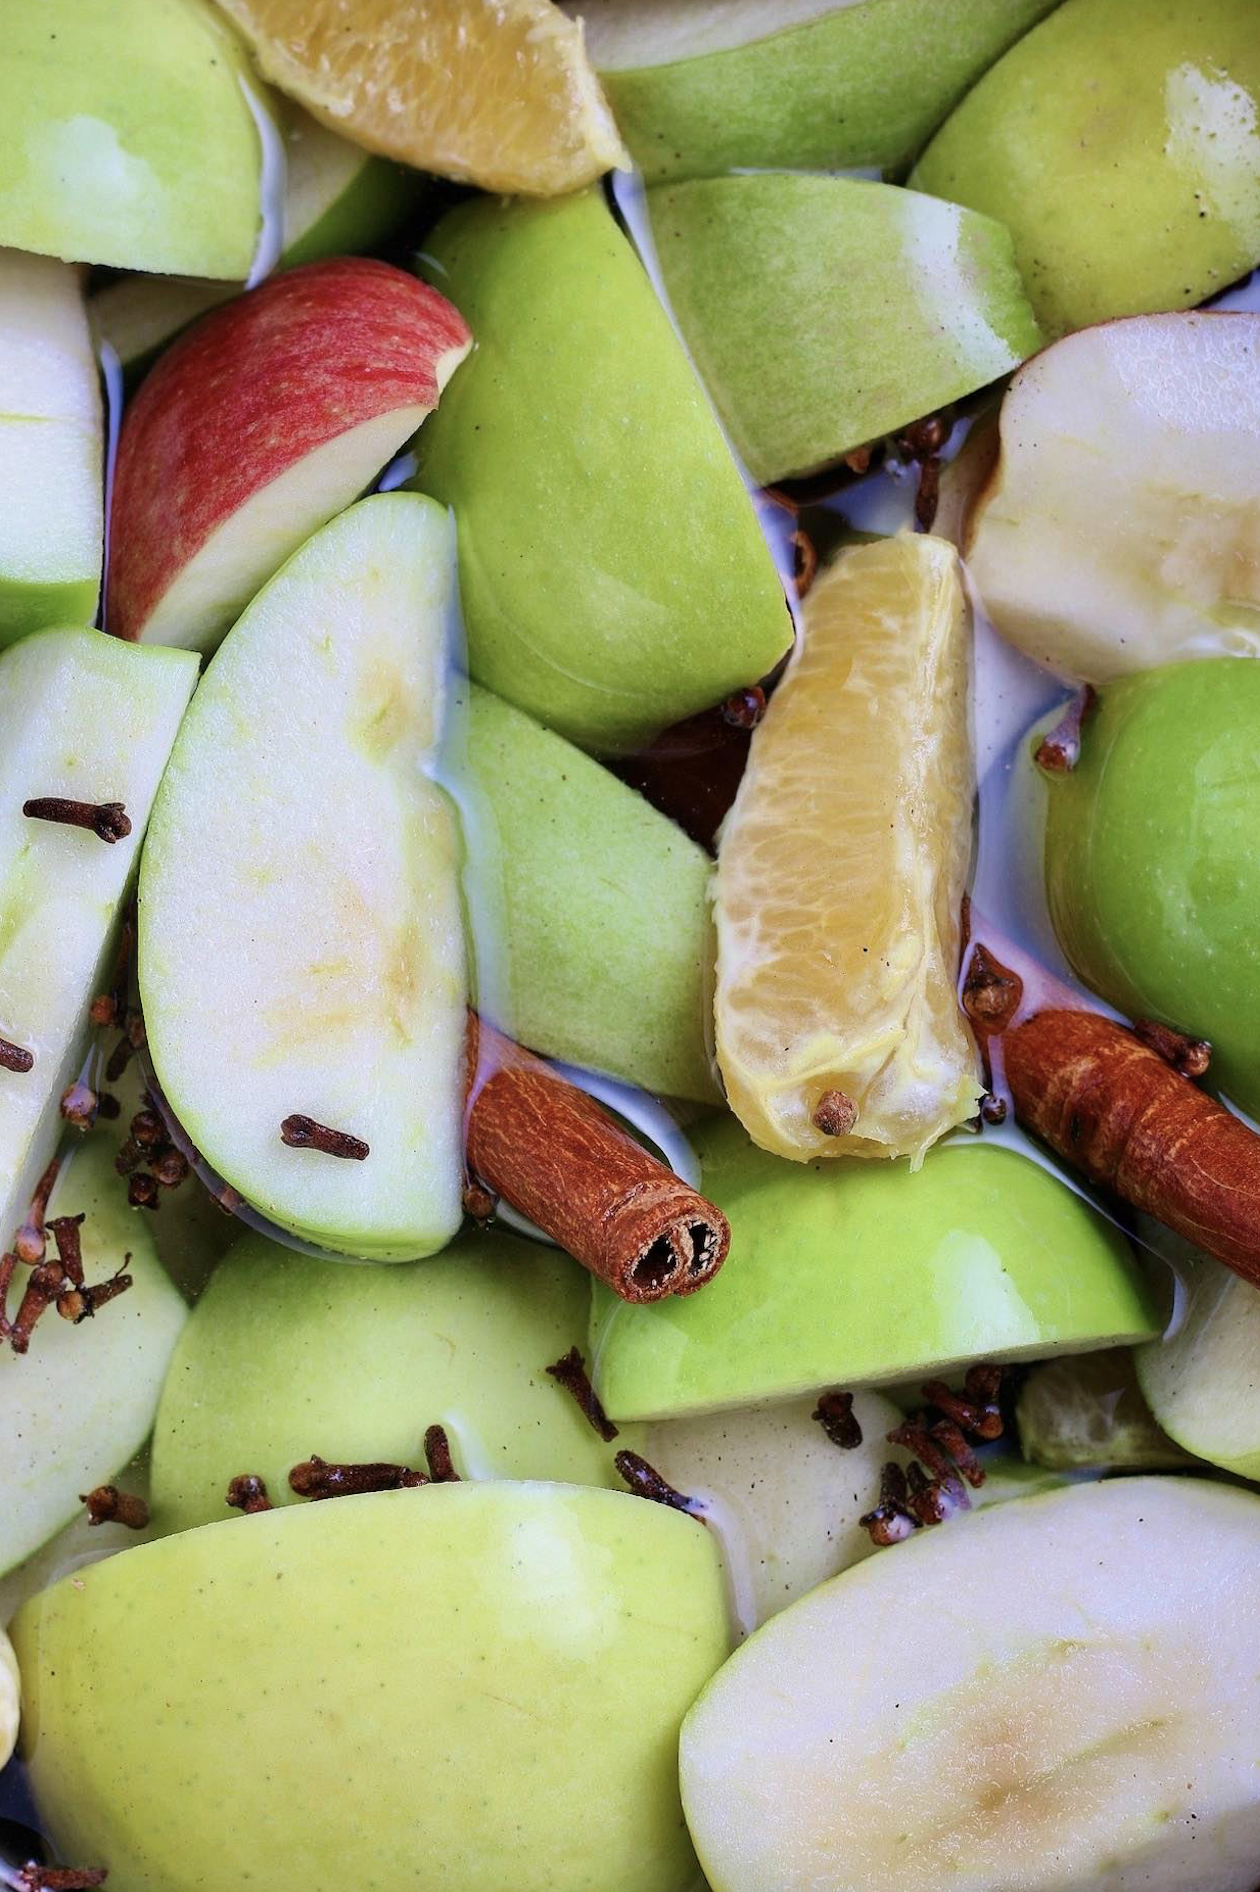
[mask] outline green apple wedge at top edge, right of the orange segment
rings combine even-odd
[[[910,163],[1054,0],[571,0],[649,182]],[[906,83],[906,74],[914,83]]]

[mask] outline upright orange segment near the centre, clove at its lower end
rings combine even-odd
[[[967,658],[952,545],[853,547],[810,592],[753,736],[717,861],[717,1061],[779,1156],[918,1164],[974,1114]]]

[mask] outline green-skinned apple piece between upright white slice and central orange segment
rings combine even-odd
[[[473,685],[445,780],[464,815],[477,940],[501,1016],[547,1058],[713,1101],[706,1044],[711,863],[534,717]],[[479,965],[484,980],[486,969]]]

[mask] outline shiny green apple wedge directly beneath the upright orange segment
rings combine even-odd
[[[692,1133],[730,1220],[704,1294],[628,1307],[596,1288],[592,1372],[613,1419],[668,1419],[819,1387],[950,1377],[1150,1340],[1129,1245],[1063,1182],[986,1143],[906,1164],[785,1164],[730,1118]]]

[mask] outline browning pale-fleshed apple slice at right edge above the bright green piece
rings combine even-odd
[[[1131,316],[1046,348],[1006,392],[967,532],[997,628],[1090,683],[1258,655],[1258,439],[1256,314]]]

